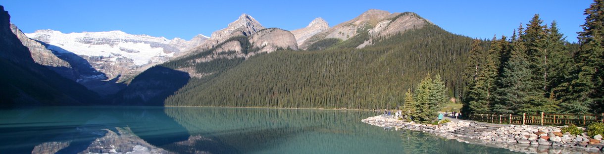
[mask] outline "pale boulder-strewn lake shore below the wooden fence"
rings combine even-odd
[[[432,133],[448,140],[469,144],[500,147],[522,153],[604,153],[602,136],[571,135],[559,127],[484,124],[472,121],[452,121],[432,125],[406,123],[381,115],[361,120],[363,123],[387,129],[409,129]]]

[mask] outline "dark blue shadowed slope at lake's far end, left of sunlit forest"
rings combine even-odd
[[[129,106],[164,106],[165,98],[186,85],[190,78],[187,72],[153,66],[139,74],[126,88],[118,92],[113,103]]]

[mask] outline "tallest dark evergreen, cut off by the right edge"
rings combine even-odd
[[[584,13],[585,24],[579,32],[580,48],[573,55],[573,71],[567,91],[561,94],[563,112],[587,114],[603,112],[602,92],[603,46],[604,45],[604,1],[596,0]]]

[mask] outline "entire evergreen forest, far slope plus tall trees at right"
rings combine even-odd
[[[457,100],[466,114],[600,113],[604,112],[603,10],[604,1],[595,1],[585,10],[577,43],[568,42],[555,21],[544,23],[535,14],[527,24],[510,30],[511,36],[499,34],[490,40],[427,24],[395,36],[371,38],[373,45],[361,49],[355,47],[363,42],[359,40],[370,39],[365,33],[344,41],[320,40],[308,50],[187,63],[212,52],[203,51],[161,65],[206,74],[191,77],[164,104],[405,109],[418,106],[408,102],[419,104],[418,89],[425,85],[427,74],[441,78],[447,98],[426,101],[438,103],[430,104],[433,107]],[[244,53],[257,49],[245,36],[231,40],[238,40]]]

